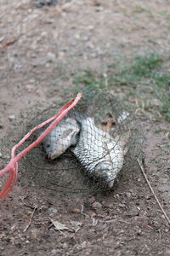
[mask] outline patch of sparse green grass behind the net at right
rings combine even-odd
[[[84,87],[122,91],[122,99],[130,108],[170,121],[170,75],[163,71],[165,59],[157,53],[136,55],[132,60],[114,63],[104,74],[84,71],[74,77],[74,84],[77,91]]]

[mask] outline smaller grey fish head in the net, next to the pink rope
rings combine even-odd
[[[48,159],[54,160],[65,153],[67,148],[74,146],[77,143],[79,130],[79,125],[74,119],[56,125],[42,140],[42,146]]]

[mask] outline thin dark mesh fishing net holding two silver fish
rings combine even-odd
[[[27,113],[27,119],[31,118],[22,127],[20,137],[53,116],[62,105],[57,102],[46,109],[34,108],[33,118],[32,111]],[[20,150],[40,137],[46,126],[33,132]],[[13,143],[20,137],[13,133]],[[4,152],[6,141],[4,138]],[[82,90],[82,99],[75,108],[20,160],[20,175],[30,185],[60,193],[112,189],[117,177],[143,158],[143,141],[138,119],[115,96],[100,90]]]

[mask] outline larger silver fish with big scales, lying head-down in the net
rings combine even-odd
[[[81,131],[73,153],[90,175],[111,188],[123,165],[124,151],[119,138],[114,140],[107,131],[96,127],[90,117],[77,121]]]

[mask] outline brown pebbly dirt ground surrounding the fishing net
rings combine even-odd
[[[0,138],[9,128],[16,136],[16,124],[35,104],[64,100],[79,71],[105,73],[120,56],[168,51],[167,6],[168,0],[0,0]],[[145,118],[141,125],[147,176],[170,218],[169,124]],[[170,255],[170,226],[139,167],[133,169],[114,191],[94,195],[58,195],[19,173],[0,201],[0,255]],[[55,230],[51,219],[68,230]]]

